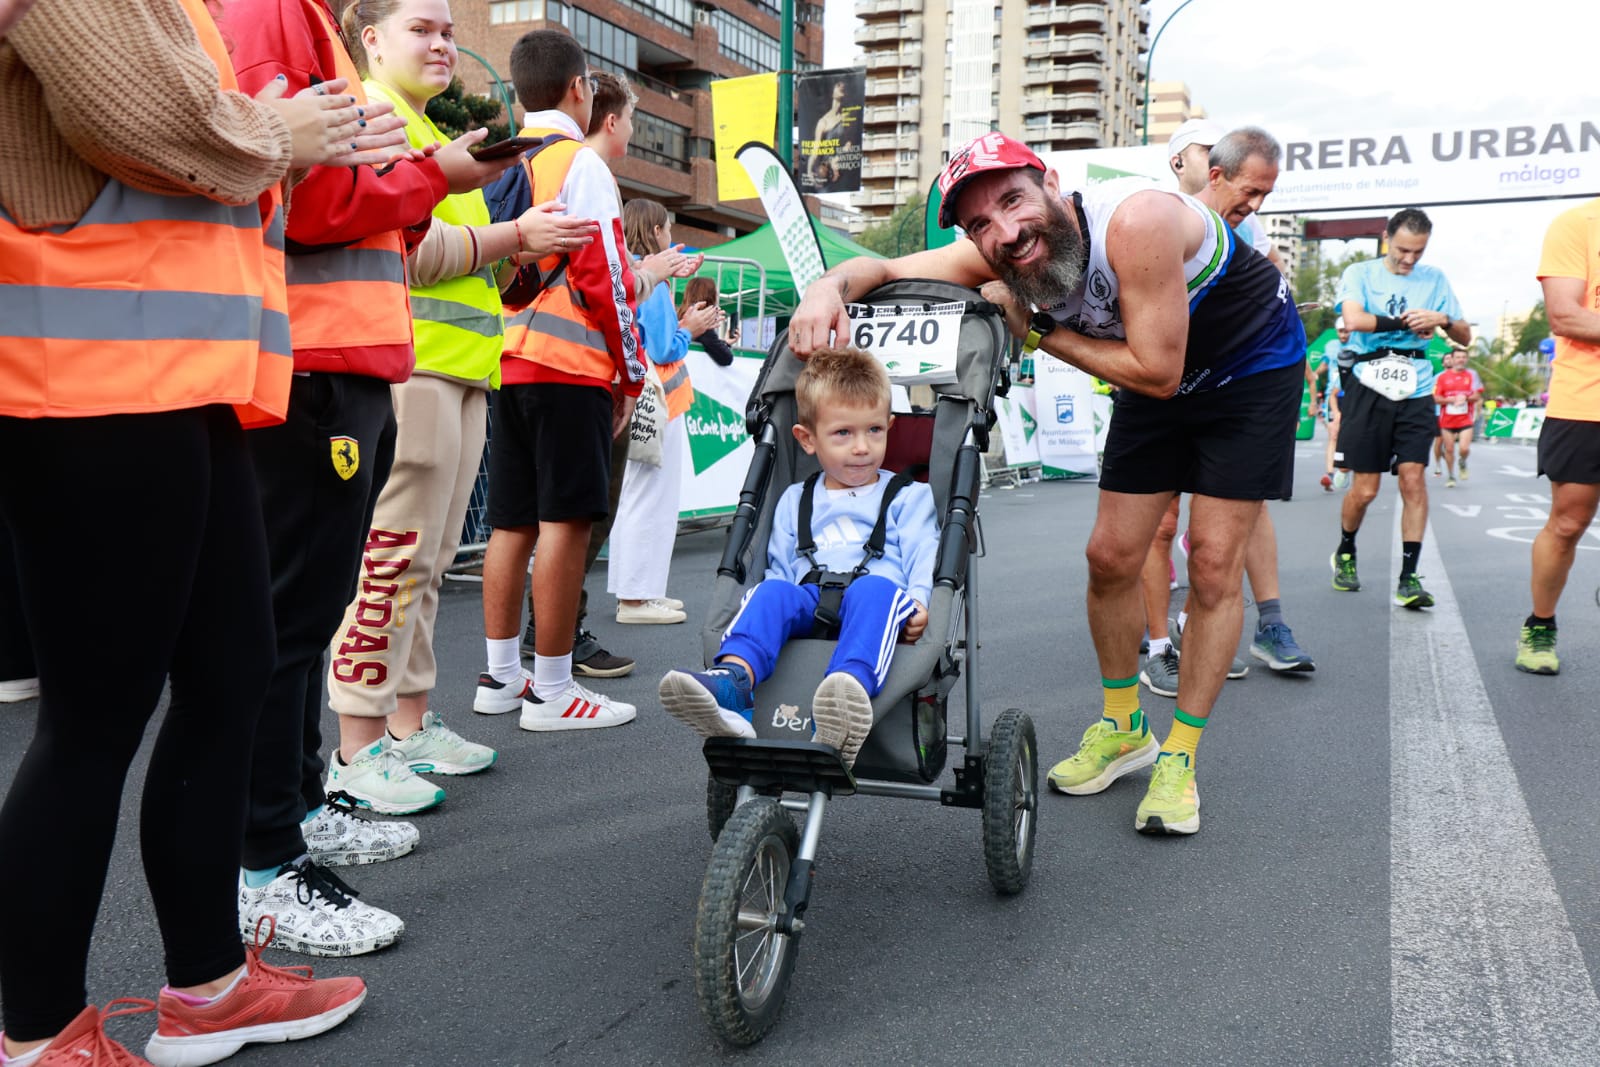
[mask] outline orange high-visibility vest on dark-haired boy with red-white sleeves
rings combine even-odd
[[[544,138],[552,133],[562,131],[528,128],[522,136]],[[531,203],[560,198],[566,171],[573,168],[573,157],[582,147],[582,141],[557,141],[525,165],[533,187]],[[549,275],[560,262],[560,254],[546,256],[538,264],[539,274]],[[506,355],[531,360],[576,378],[595,378],[603,382],[616,378],[616,360],[611,358],[605,334],[573,298],[566,270],[557,274],[533,304],[506,323]]]

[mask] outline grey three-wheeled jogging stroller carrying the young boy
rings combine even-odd
[[[694,921],[694,982],[707,1022],[731,1045],[758,1041],[782,1009],[805,929],[822,813],[834,797],[901,797],[981,809],[984,862],[1003,894],[1026,888],[1034,862],[1034,723],[1010,709],[982,737],[974,657],[976,558],[982,555],[978,491],[994,395],[1006,366],[1005,322],[976,293],[946,282],[893,282],[861,302],[874,310],[862,312],[858,323],[870,322],[872,314],[962,306],[957,382],[934,386],[933,411],[896,414],[883,464],[893,470],[928,467],[941,518],[933,603],[923,637],[894,653],[853,773],[834,749],[810,741],[810,701],[826,673],[834,648],[829,640],[802,638],[784,646],[773,675],[755,689],[755,739],[706,741],[706,816],[715,845]],[[701,632],[707,665],[746,587],[766,569],[778,498],[818,469],[790,434],[802,368],[789,352],[787,334],[781,334],[750,395],[746,422],[755,458]],[[963,672],[966,720],[952,729],[946,705]],[[954,784],[941,785],[949,744],[965,749],[965,755],[954,769]],[[805,814],[802,827],[795,827],[790,811]]]

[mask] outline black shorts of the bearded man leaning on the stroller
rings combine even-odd
[[[1101,488],[1286,499],[1304,389],[1306,365],[1291,363],[1170,400],[1123,390],[1106,432]]]

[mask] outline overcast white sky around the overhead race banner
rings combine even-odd
[[[1154,0],[1152,37],[1179,3]],[[826,61],[848,66],[854,2],[827,0],[826,16]],[[1597,0],[1192,0],[1162,34],[1150,74],[1187,82],[1194,102],[1226,126],[1261,125],[1288,141],[1373,123],[1600,118],[1597,56]],[[1434,219],[1426,262],[1493,333],[1502,309],[1515,315],[1539,299],[1544,229],[1576,203],[1416,205]]]

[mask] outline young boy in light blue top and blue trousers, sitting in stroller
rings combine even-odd
[[[896,640],[904,632],[915,641],[928,624],[938,515],[925,483],[880,470],[894,416],[888,373],[874,357],[859,349],[814,352],[795,382],[795,440],[821,472],[779,499],[766,576],[746,593],[715,665],[669,670],[661,704],[701,736],[754,737],[757,683],[771,675],[787,640],[813,632],[819,603],[824,616],[830,611],[829,579],[851,574],[832,608],[838,648],[816,688],[811,721],[816,741],[853,766]],[[882,550],[872,536],[880,523]]]

